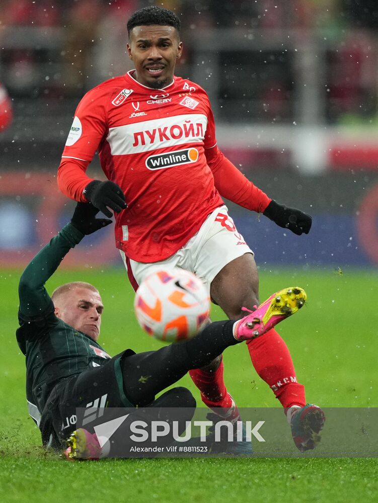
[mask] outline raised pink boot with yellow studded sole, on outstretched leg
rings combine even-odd
[[[274,293],[263,302],[255,311],[242,307],[243,311],[250,314],[234,324],[234,337],[237,341],[249,341],[262,336],[263,333],[273,328],[283,319],[296,313],[305,305],[307,299],[303,288],[297,286],[285,288]]]

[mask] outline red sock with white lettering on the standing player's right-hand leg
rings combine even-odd
[[[269,384],[282,406],[305,406],[305,386],[297,382],[289,350],[274,328],[249,341],[247,346],[256,372]]]

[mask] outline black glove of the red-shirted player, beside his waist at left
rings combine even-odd
[[[100,180],[94,180],[87,185],[83,193],[88,201],[102,211],[107,217],[113,216],[107,206],[116,213],[127,208],[125,195],[121,187],[114,182],[100,182]]]

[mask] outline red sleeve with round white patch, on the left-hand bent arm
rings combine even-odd
[[[87,93],[75,111],[72,126],[58,167],[58,187],[75,201],[86,201],[84,188],[93,179],[86,170],[108,132],[106,111],[109,92],[95,88]]]

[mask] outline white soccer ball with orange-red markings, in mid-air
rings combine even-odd
[[[202,281],[177,267],[150,274],[134,299],[139,325],[149,336],[172,343],[195,336],[210,310],[210,298]]]

